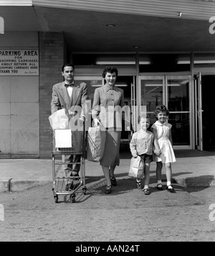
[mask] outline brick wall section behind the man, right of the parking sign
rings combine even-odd
[[[50,125],[52,86],[62,82],[61,67],[65,61],[63,32],[39,32],[39,154],[52,157]]]

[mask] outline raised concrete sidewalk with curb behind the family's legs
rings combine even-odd
[[[182,186],[215,185],[215,152],[197,150],[175,150],[173,180]],[[118,179],[128,177],[130,152],[120,152],[120,166],[115,169]],[[85,160],[87,177],[104,178],[99,163]],[[165,168],[162,178],[166,179]],[[156,180],[156,163],[151,164],[151,177]],[[50,159],[0,159],[0,193],[24,191],[27,188],[52,182],[52,160]]]

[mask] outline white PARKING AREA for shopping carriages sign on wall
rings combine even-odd
[[[39,50],[1,50],[0,76],[39,76]]]

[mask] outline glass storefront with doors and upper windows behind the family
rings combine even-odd
[[[214,65],[205,63],[210,62],[209,60],[215,58],[215,55],[200,55],[199,53],[195,55],[194,52],[190,55],[156,54],[156,57],[158,55],[160,55],[158,61],[161,62],[164,58],[166,59],[166,62],[162,62],[161,66],[161,71],[163,72],[154,72],[155,69],[159,70],[158,65],[155,65],[153,61],[153,65],[156,68],[150,67],[149,65],[152,62],[149,61],[149,54],[146,55],[141,52],[138,52],[138,56],[115,54],[114,56],[103,55],[102,58],[94,55],[94,58],[97,61],[102,59],[102,65],[109,63],[118,67],[119,77],[116,85],[125,92],[125,103],[131,109],[133,130],[138,129],[136,120],[141,109],[143,111],[146,110],[151,115],[151,123],[153,124],[156,121],[153,115],[154,109],[158,104],[165,104],[170,111],[169,122],[173,125],[173,147],[175,149],[209,150],[210,146],[213,148],[214,138],[212,139],[211,137],[208,141],[206,141],[206,138],[204,140],[206,136],[204,133],[204,129],[206,129],[204,126],[204,121],[206,120],[204,108],[209,109],[209,104],[211,103],[205,100],[207,94],[204,93],[203,95],[201,92],[202,77],[211,78],[212,83],[205,83],[204,86],[207,86],[210,91],[214,90]],[[77,56],[75,56],[74,60],[76,58]],[[175,60],[170,61],[171,58],[175,58]],[[198,64],[191,64],[192,58]],[[138,64],[135,63],[135,59],[139,60]],[[96,60],[93,61],[94,63],[97,62]],[[175,64],[170,66],[170,62]],[[133,65],[131,65],[132,63]],[[140,72],[143,70],[147,72]],[[93,100],[95,88],[102,86],[104,83],[101,76],[101,66],[97,65],[90,68],[90,65],[88,67],[77,65],[76,73],[78,73],[78,80],[87,83],[90,99]],[[94,73],[97,76],[85,76],[85,73]],[[209,116],[209,113],[207,113],[207,116]],[[122,143],[128,143],[130,136],[129,132],[123,132]]]

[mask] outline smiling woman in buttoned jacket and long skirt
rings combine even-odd
[[[100,165],[107,182],[105,193],[111,193],[112,186],[117,186],[114,170],[116,165],[120,165],[121,108],[124,106],[124,92],[115,86],[118,77],[116,68],[105,68],[102,77],[106,83],[95,89],[92,118],[95,125],[101,124],[106,130],[105,152]]]

